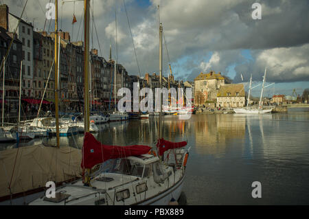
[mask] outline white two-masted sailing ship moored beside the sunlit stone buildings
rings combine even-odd
[[[250,78],[250,85],[249,85],[249,93],[248,93],[248,100],[247,100],[247,107],[246,108],[234,108],[233,111],[235,113],[247,113],[247,114],[260,114],[260,113],[271,113],[273,108],[263,108],[262,107],[262,96],[263,96],[263,90],[264,90],[264,83],[265,83],[265,78],[266,78],[266,67],[265,67],[265,72],[264,72],[264,77],[263,77],[263,84],[262,84],[262,90],[261,90],[261,97],[260,97],[260,103],[258,108],[251,108],[249,107],[249,102],[250,102],[250,93],[251,93],[251,82],[252,82],[252,75]],[[270,86],[272,84],[267,85],[266,87]]]

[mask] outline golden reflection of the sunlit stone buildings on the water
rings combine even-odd
[[[199,115],[195,122],[196,152],[222,154],[231,139],[244,139],[244,118],[233,115]]]

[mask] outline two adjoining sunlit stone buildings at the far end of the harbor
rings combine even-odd
[[[245,105],[243,84],[226,84],[220,72],[201,72],[194,79],[194,106],[231,107]]]

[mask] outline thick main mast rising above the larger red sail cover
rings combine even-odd
[[[84,132],[89,132],[89,8],[84,0]]]

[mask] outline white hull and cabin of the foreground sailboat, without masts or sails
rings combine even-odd
[[[90,139],[89,145],[84,143],[83,147],[92,148],[97,143]],[[86,148],[84,150],[90,149]],[[169,205],[181,195],[188,150],[177,148],[174,152],[174,164],[163,163],[153,154],[123,157],[108,164],[106,161],[92,175],[90,186],[84,185],[82,180],[74,181],[58,187],[54,198],[42,196],[30,205]],[[83,159],[92,161],[91,157]]]

